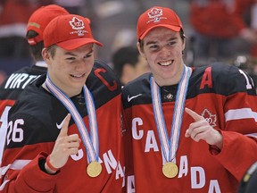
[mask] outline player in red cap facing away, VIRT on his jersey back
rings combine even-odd
[[[26,38],[29,43],[30,54],[35,63],[32,66],[23,67],[13,72],[4,80],[0,87],[0,122],[2,122],[0,124],[0,164],[7,130],[7,116],[10,108],[19,98],[23,89],[47,71],[46,62],[41,55],[44,48],[44,29],[49,21],[56,16],[67,13],[61,6],[50,4],[38,8],[29,18]]]

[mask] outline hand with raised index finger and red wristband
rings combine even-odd
[[[68,128],[70,122],[70,113],[67,114],[62,125],[62,130],[59,133],[58,138],[56,138],[54,149],[50,156],[50,163],[54,168],[62,168],[64,164],[67,163],[70,155],[78,154],[79,143],[81,139],[78,134],[68,135]],[[46,172],[54,173],[45,164]]]

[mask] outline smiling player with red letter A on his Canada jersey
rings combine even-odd
[[[187,67],[170,8],[141,14],[137,39],[152,73],[122,89],[128,192],[236,192],[257,159],[253,81],[224,63]]]

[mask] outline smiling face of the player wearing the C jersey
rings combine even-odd
[[[54,49],[54,55],[47,52],[46,48],[42,51],[50,79],[67,96],[79,95],[94,65],[93,44],[71,51],[60,46]]]

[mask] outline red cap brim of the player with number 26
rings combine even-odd
[[[96,41],[93,38],[73,38],[67,41],[56,43],[57,46],[60,46],[62,47],[62,49],[65,50],[74,50],[79,48],[80,46],[84,46],[87,44],[96,44],[98,46],[104,46],[102,43]]]

